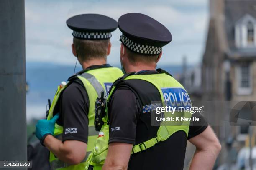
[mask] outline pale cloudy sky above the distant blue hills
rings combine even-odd
[[[208,0],[25,0],[26,61],[74,65],[72,30],[66,20],[82,13],[98,13],[115,20],[125,13],[143,13],[172,33],[159,65],[200,64],[208,28]],[[108,63],[120,65],[120,30],[110,39]]]

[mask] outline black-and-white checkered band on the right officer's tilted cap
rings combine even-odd
[[[136,42],[133,42],[125,35],[121,35],[120,41],[123,42],[123,44],[128,47],[130,50],[134,52],[138,52],[141,54],[148,54],[148,55],[158,55],[162,51],[162,47],[155,47],[150,45],[141,45]]]

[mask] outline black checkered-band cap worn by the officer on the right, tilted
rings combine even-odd
[[[123,33],[120,41],[140,54],[157,55],[172,41],[172,35],[164,25],[141,13],[122,15],[118,19],[118,28]]]

